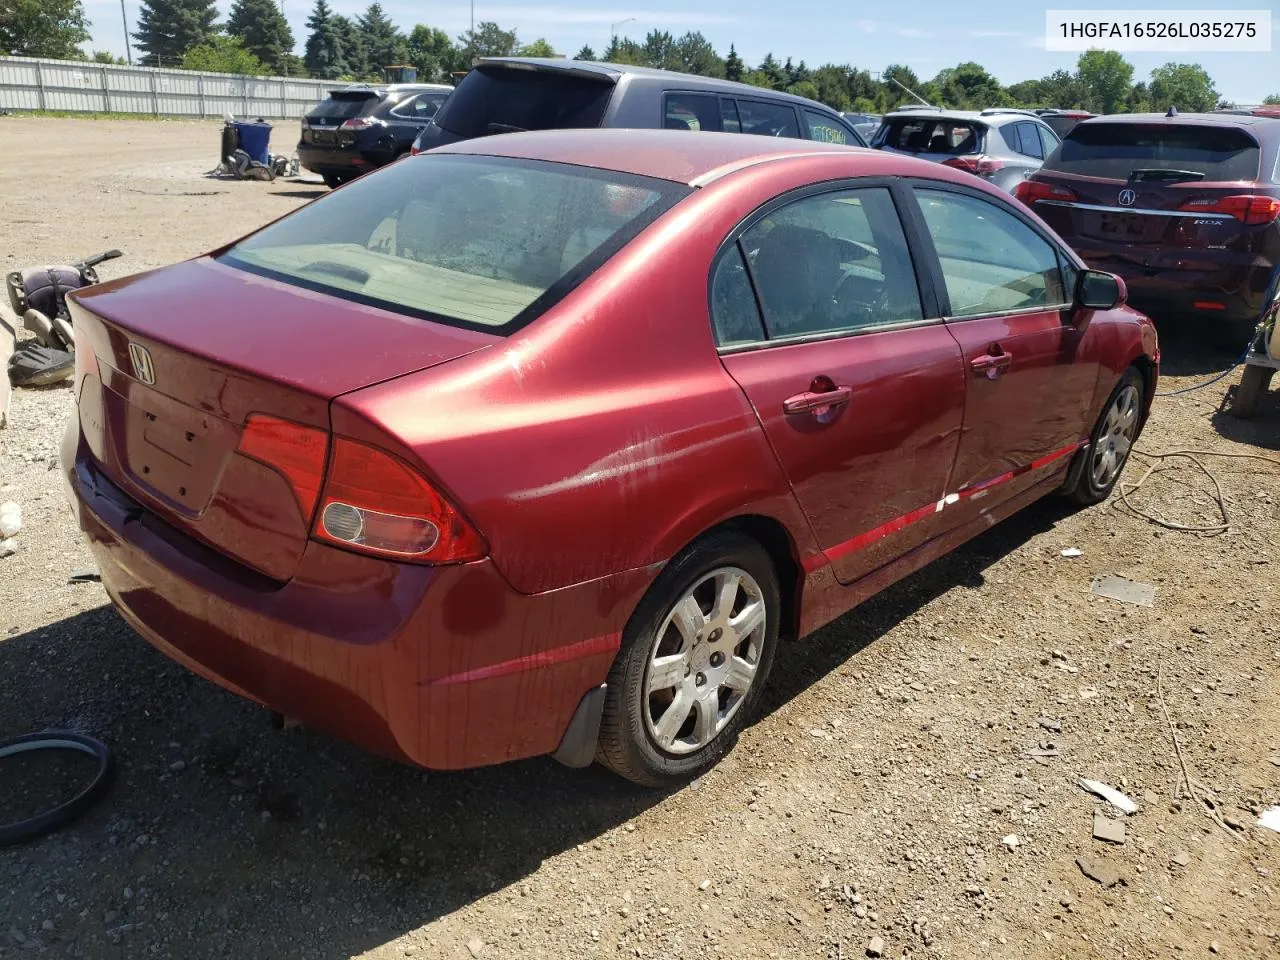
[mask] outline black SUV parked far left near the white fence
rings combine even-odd
[[[302,118],[298,163],[337,187],[404,156],[422,127],[453,92],[440,83],[353,86]]]

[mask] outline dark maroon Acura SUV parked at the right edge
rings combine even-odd
[[[1243,339],[1280,265],[1280,119],[1085,120],[1018,197],[1140,310]]]

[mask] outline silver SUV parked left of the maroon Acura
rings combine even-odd
[[[908,108],[886,114],[872,146],[954,166],[1011,192],[1059,137],[1028,110]]]

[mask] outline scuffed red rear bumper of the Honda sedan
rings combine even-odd
[[[525,595],[489,561],[422,567],[312,543],[280,585],[129,499],[74,419],[61,453],[102,584],[148,643],[241,696],[433,769],[556,751],[653,576]]]

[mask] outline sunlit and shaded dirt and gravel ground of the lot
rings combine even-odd
[[[324,193],[205,179],[218,142],[210,123],[0,118],[0,269],[119,247],[118,276]],[[1164,389],[1230,362],[1201,339],[1166,330]],[[1158,401],[1140,447],[1276,457],[1280,396],[1234,421],[1236,381]],[[0,559],[0,739],[91,733],[118,777],[73,826],[0,849],[0,956],[1280,956],[1280,835],[1257,826],[1280,804],[1280,465],[1203,458],[1217,536],[1042,502],[785,648],[732,755],[662,795],[271,730],[68,582],[91,562],[54,471],[70,406],[17,390],[0,431],[0,500],[24,516]],[[1217,516],[1185,461],[1132,499]],[[1105,573],[1155,605],[1092,598]],[[4,763],[0,806],[29,803]],[[1123,845],[1092,838],[1110,808],[1080,777],[1138,803]]]

